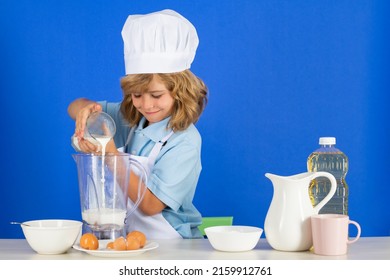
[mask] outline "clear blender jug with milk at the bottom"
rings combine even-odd
[[[126,236],[126,219],[141,202],[146,172],[129,154],[74,154],[80,190],[82,233],[92,232],[98,239]],[[138,199],[128,209],[130,170],[138,170]],[[136,171],[134,170],[134,171]],[[127,217],[127,218],[126,218]]]

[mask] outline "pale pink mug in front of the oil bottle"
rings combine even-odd
[[[349,238],[348,228],[353,224],[357,235]],[[348,244],[360,238],[360,225],[349,219],[347,215],[318,214],[311,216],[314,253],[317,255],[345,255]]]

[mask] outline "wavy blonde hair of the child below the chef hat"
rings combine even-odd
[[[206,107],[208,89],[190,70],[184,70],[169,74],[132,74],[121,79],[123,101],[120,108],[130,125],[137,125],[142,118],[142,114],[133,105],[131,94],[146,92],[154,75],[160,78],[174,99],[168,127],[180,131],[196,123]]]

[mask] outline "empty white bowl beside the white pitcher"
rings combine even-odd
[[[255,248],[262,228],[250,226],[214,226],[204,229],[211,246],[218,251],[242,252]]]

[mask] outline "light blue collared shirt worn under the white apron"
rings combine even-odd
[[[120,112],[120,103],[99,103],[117,125],[116,146],[123,147],[131,128]],[[146,119],[142,118],[125,152],[148,156],[155,143],[170,133],[167,129],[169,119],[144,127]],[[175,132],[157,156],[147,183],[149,190],[167,205],[162,211],[163,217],[183,238],[202,237],[198,230],[202,217],[192,203],[202,169],[201,143],[201,136],[193,124],[184,131]]]

